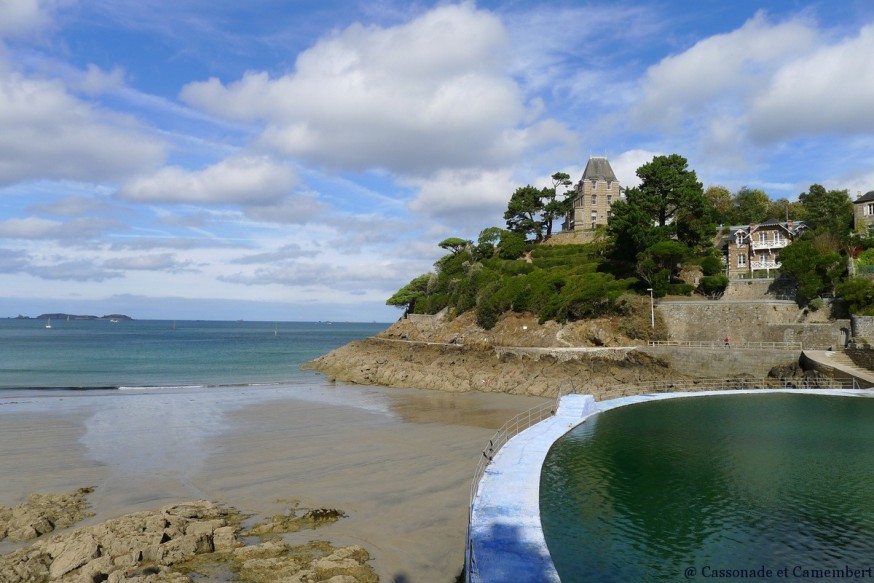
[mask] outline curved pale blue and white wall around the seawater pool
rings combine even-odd
[[[874,397],[872,389],[758,389],[658,393],[595,401],[566,395],[556,414],[510,439],[486,468],[473,500],[466,571],[474,583],[559,582],[540,525],[540,473],[555,441],[603,411],[662,399],[794,393]]]

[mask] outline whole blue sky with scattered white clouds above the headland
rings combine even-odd
[[[869,0],[0,0],[0,317],[394,321],[513,191],[874,190]]]

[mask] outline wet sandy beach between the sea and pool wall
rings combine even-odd
[[[381,581],[449,582],[483,444],[542,402],[340,383],[4,396],[0,505],[94,486],[83,524],[199,498],[258,518],[334,507],[348,518],[315,536],[366,548]]]

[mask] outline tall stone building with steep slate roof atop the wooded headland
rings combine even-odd
[[[610,207],[623,196],[619,180],[607,158],[589,158],[583,177],[576,186],[573,210],[562,228],[565,231],[583,231],[606,225],[611,216]]]

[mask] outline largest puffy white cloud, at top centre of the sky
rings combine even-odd
[[[435,8],[404,25],[352,25],[301,53],[293,73],[187,85],[183,100],[213,115],[262,120],[261,142],[344,169],[426,174],[496,166],[542,136],[506,74],[509,40],[472,4]]]

